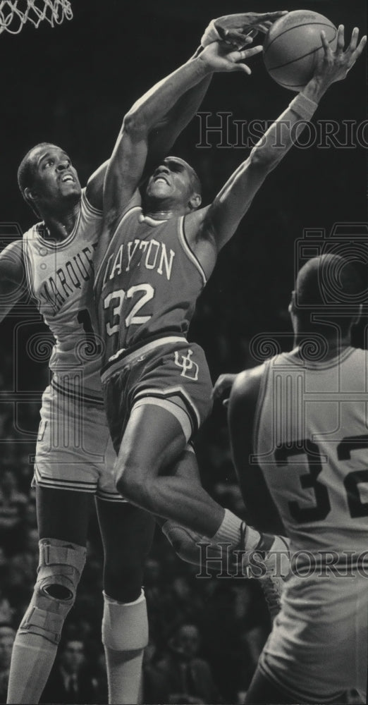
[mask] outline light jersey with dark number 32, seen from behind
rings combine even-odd
[[[326,362],[293,351],[264,365],[253,448],[292,552],[368,548],[367,361],[345,348]]]

